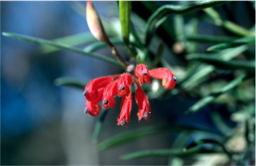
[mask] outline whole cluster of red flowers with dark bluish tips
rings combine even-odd
[[[87,100],[85,103],[85,113],[91,116],[98,116],[101,112],[99,102],[105,109],[115,106],[115,96],[122,97],[121,112],[117,118],[117,125],[127,126],[131,114],[132,93],[131,84],[135,84],[135,101],[139,106],[137,116],[139,121],[144,118],[149,120],[150,106],[147,95],[142,90],[141,85],[151,82],[150,77],[162,80],[165,88],[173,89],[176,84],[175,75],[168,68],[155,68],[148,70],[145,64],[137,64],[135,76],[129,72],[123,74],[103,76],[91,80],[85,86],[84,95]]]

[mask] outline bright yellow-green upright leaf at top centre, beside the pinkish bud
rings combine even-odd
[[[119,17],[123,41],[129,46],[131,1],[119,1]]]

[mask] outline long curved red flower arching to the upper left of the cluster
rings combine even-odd
[[[85,98],[89,101],[96,100],[99,96],[98,89],[104,88],[114,80],[114,78],[117,78],[119,75],[113,75],[113,76],[103,76],[99,78],[95,78],[91,80],[87,86],[85,86],[85,90],[83,94],[85,95]]]

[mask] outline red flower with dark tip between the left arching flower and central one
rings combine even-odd
[[[115,105],[114,96],[116,95],[117,95],[117,80],[109,83],[103,92],[102,103],[105,109],[109,108],[109,106],[111,108],[114,107]]]

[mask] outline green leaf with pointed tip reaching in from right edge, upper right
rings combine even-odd
[[[209,48],[207,48],[207,51],[223,50],[225,48],[241,46],[243,44],[251,44],[253,42],[255,43],[255,37],[245,37],[245,38],[242,38],[242,39],[237,39],[235,41],[231,41],[231,42],[226,42],[226,43],[221,43],[221,44],[217,44],[217,45],[214,45],[214,46],[210,46]]]

